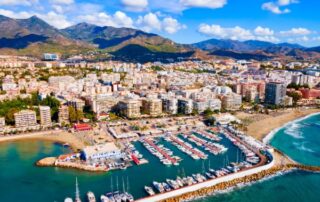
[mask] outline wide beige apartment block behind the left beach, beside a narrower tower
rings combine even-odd
[[[35,111],[22,110],[14,114],[16,128],[31,127],[37,125],[37,115]]]

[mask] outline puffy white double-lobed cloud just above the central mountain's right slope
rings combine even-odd
[[[172,17],[165,17],[159,19],[159,16],[155,13],[148,13],[144,16],[139,16],[136,21],[136,25],[139,29],[142,29],[146,32],[156,31],[165,31],[169,34],[174,34],[181,29],[185,29],[186,26],[178,22],[178,20]]]

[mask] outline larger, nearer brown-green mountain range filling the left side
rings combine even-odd
[[[192,46],[177,44],[159,35],[137,29],[80,23],[59,30],[36,16],[12,19],[0,15],[0,30],[0,54],[41,57],[44,52],[54,52],[67,57],[93,51],[96,58],[105,58],[107,52],[118,59],[121,59],[119,55],[122,55],[123,58],[131,58],[132,61],[137,61],[136,58],[140,61],[147,58],[150,61],[165,61],[201,52]],[[131,57],[130,54],[133,53],[127,50],[137,50],[142,54]],[[124,53],[126,55],[123,55]],[[153,57],[150,58],[150,55]],[[206,54],[197,54],[203,55]]]

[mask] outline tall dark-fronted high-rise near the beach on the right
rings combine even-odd
[[[269,82],[266,85],[265,104],[281,105],[286,96],[287,87],[284,83]]]

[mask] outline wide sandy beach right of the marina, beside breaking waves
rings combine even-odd
[[[272,130],[277,129],[290,121],[318,113],[320,109],[286,109],[267,114],[239,113],[237,118],[246,125],[246,133],[258,140],[263,140]]]

